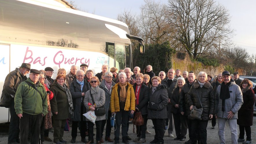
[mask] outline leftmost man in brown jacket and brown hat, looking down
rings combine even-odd
[[[19,118],[17,117],[14,109],[14,96],[19,84],[27,79],[26,74],[30,71],[30,64],[22,63],[19,68],[11,71],[5,78],[3,84],[3,91],[1,95],[0,106],[10,108],[10,126],[8,135],[8,144],[19,143]],[[4,97],[8,97],[5,101]]]

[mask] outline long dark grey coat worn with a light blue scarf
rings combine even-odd
[[[80,84],[76,82],[76,78],[73,82],[71,82],[69,86],[69,91],[72,95],[72,101],[73,101],[73,108],[74,108],[74,117],[72,118],[72,121],[81,121],[81,113],[86,113],[86,108],[84,107],[84,96],[82,96],[82,92],[86,93],[88,90],[90,90],[91,87],[89,86],[88,82],[84,79],[84,85],[83,89],[81,91]],[[81,111],[81,105],[84,107],[84,111]],[[83,116],[83,121],[85,121],[85,117]]]

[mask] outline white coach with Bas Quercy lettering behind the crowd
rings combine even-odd
[[[67,73],[71,65],[85,63],[94,73],[109,68],[132,67],[131,39],[120,21],[65,7],[54,0],[0,1],[0,92],[10,71],[30,63],[32,69],[52,67]],[[1,93],[0,93],[1,95]],[[0,123],[9,122],[7,108],[0,107]]]

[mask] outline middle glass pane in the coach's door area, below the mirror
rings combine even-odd
[[[124,69],[125,67],[125,47],[123,43],[115,43],[115,67]]]

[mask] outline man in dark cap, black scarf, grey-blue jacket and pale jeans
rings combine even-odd
[[[237,143],[237,112],[243,104],[243,96],[239,86],[231,79],[229,71],[222,72],[223,82],[216,91],[215,113],[218,118],[218,135],[220,143],[225,143],[226,121],[231,130],[231,143]]]

